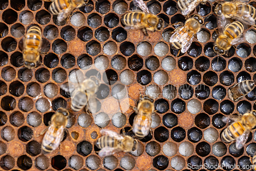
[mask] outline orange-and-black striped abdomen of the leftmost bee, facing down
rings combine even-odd
[[[39,50],[41,48],[41,29],[38,26],[32,26],[28,29],[25,37],[25,49]]]

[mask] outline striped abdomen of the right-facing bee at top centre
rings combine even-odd
[[[138,26],[143,22],[143,12],[129,12],[124,14],[121,18],[121,22],[126,26]]]

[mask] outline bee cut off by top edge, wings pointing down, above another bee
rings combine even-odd
[[[181,10],[182,15],[188,15],[192,12],[200,3],[205,5],[207,0],[179,0],[177,7]]]

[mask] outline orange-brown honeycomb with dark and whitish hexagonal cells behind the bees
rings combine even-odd
[[[0,2],[1,170],[154,171],[187,170],[188,164],[250,165],[256,148],[255,132],[241,150],[234,143],[222,143],[220,134],[226,127],[222,116],[256,109],[256,89],[238,102],[227,97],[232,84],[256,81],[255,42],[246,41],[237,49],[231,48],[227,56],[217,56],[212,50],[217,37],[212,12],[216,4],[208,1],[194,11],[204,17],[201,32],[207,36],[200,41],[195,38],[189,50],[176,57],[178,51],[170,49],[168,43],[169,33],[174,30],[172,24],[185,21],[177,2],[145,3],[164,19],[163,32],[149,32],[147,37],[140,30],[125,31],[120,18],[134,8],[132,1],[89,1],[93,6],[75,9],[62,23],[48,12],[51,2]],[[255,2],[250,4],[254,6]],[[32,24],[40,26],[49,46],[42,49],[40,65],[29,70],[23,67],[18,44]],[[256,31],[250,27],[245,29],[248,32]],[[100,61],[103,66],[97,66]],[[77,71],[87,77],[100,71],[105,83],[97,93],[99,108],[93,117],[84,110],[72,112],[68,133],[59,148],[44,154],[40,133],[56,109],[70,109],[70,95],[60,86]],[[118,94],[124,87],[127,91]],[[119,106],[127,100],[136,105],[145,87],[155,99],[153,135],[143,138],[136,152],[99,157],[94,143],[100,129],[121,133],[124,127],[129,132],[136,114],[129,107],[122,112]]]

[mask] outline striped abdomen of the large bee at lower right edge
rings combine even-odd
[[[222,132],[221,140],[225,143],[234,141],[244,133],[244,130],[244,126],[241,122],[234,122]]]

